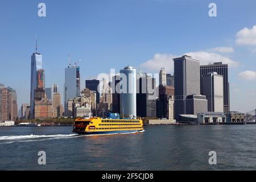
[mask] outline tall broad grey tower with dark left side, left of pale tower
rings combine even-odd
[[[177,57],[173,60],[175,75],[175,118],[179,119],[180,114],[196,114],[194,111],[207,110],[207,100],[205,100],[205,97],[195,96],[200,95],[200,60],[193,59],[187,55]],[[188,98],[188,101],[187,96],[191,96]],[[206,106],[206,108],[192,108],[199,106],[194,103],[201,100],[203,100],[204,107]],[[191,109],[187,110],[188,108]]]

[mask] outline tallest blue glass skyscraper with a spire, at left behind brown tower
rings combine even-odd
[[[42,69],[42,55],[37,52],[38,48],[36,45],[36,51],[31,56],[31,76],[30,76],[30,118],[35,118],[35,89],[36,89],[36,71]]]

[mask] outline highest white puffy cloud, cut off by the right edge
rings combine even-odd
[[[256,45],[256,25],[249,29],[247,27],[237,32],[236,43],[243,46]]]

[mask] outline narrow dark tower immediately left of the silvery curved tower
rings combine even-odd
[[[120,113],[120,88],[118,88],[118,83],[120,82],[119,76],[112,77],[112,112]],[[118,84],[118,85],[117,85]]]

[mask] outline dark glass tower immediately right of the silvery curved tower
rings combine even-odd
[[[141,74],[140,74],[141,75]],[[156,117],[156,80],[145,74],[137,75],[137,116]]]

